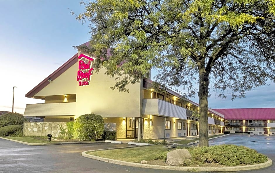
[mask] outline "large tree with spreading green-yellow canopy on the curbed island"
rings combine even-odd
[[[200,146],[208,146],[209,84],[225,97],[275,79],[274,0],[97,0],[80,4],[90,23],[96,70],[118,76],[115,88],[148,77],[187,96],[198,94]],[[109,52],[110,51],[110,52]],[[121,65],[122,64],[122,65]],[[194,89],[199,85],[199,90]]]

